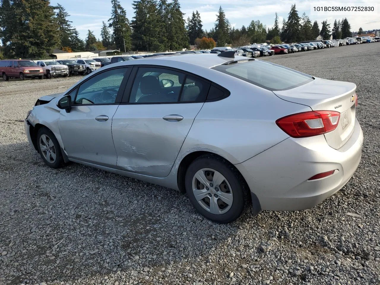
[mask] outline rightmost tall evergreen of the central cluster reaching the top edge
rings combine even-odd
[[[172,51],[189,47],[189,40],[183,16],[184,14],[181,11],[178,0],[173,0],[169,5],[170,24],[168,28],[169,49]]]

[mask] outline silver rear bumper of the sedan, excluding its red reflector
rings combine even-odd
[[[288,138],[236,168],[244,176],[262,210],[309,209],[340,190],[359,165],[363,131],[357,120],[351,138],[336,150],[323,135]],[[336,169],[331,176],[308,180]]]

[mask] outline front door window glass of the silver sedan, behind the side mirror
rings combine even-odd
[[[75,104],[115,103],[117,92],[127,68],[117,68],[99,73],[79,86]]]

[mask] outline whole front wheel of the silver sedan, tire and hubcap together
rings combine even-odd
[[[47,166],[60,168],[63,166],[61,148],[51,130],[46,127],[40,128],[37,133],[38,152]]]

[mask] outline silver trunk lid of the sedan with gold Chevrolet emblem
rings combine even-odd
[[[283,100],[309,106],[313,111],[340,112],[336,129],[325,134],[329,146],[339,149],[354,130],[355,91],[354,83],[315,78],[302,86],[273,92]]]

